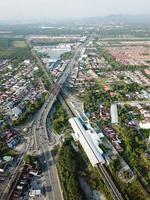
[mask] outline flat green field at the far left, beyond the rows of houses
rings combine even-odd
[[[25,40],[0,38],[0,58],[28,58],[31,56]]]

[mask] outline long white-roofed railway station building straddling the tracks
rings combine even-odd
[[[99,136],[95,131],[86,130],[78,118],[69,120],[75,134],[75,140],[79,140],[85,153],[87,154],[91,164],[95,166],[98,163],[104,164],[105,160],[102,156],[103,151],[99,147]]]

